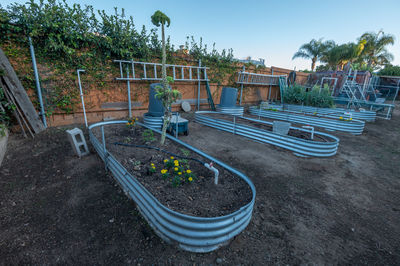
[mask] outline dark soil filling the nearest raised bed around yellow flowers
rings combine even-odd
[[[164,179],[161,174],[161,170],[165,168],[164,160],[173,155],[154,149],[113,144],[119,142],[154,146],[179,156],[210,163],[208,159],[169,139],[166,139],[161,147],[160,135],[154,133],[155,139],[150,141],[142,136],[144,130],[140,126],[129,129],[122,124],[105,126],[107,150],[166,207],[188,215],[216,217],[230,214],[251,201],[252,192],[249,185],[223,167],[215,165],[219,170],[219,183],[214,185],[214,172],[194,160],[182,163],[182,160],[175,156],[174,159],[178,159],[181,165],[187,164],[196,177],[193,182],[186,181],[174,187],[171,182],[172,175]],[[94,129],[94,134],[101,140],[99,128]],[[155,173],[149,172],[151,163],[156,168]]]

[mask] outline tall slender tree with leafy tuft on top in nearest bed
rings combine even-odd
[[[167,78],[167,68],[165,66],[166,61],[166,51],[165,51],[165,33],[164,26],[169,27],[171,20],[167,15],[162,13],[160,10],[157,10],[151,16],[151,22],[157,26],[161,26],[161,40],[162,40],[162,86],[157,86],[157,94],[156,97],[162,101],[164,106],[164,123],[162,127],[161,134],[161,145],[164,145],[165,136],[167,134],[167,128],[169,126],[169,122],[171,121],[172,113],[171,113],[171,104],[175,102],[177,99],[181,97],[181,93],[178,90],[172,90],[169,88],[169,83],[173,81],[171,77]]]

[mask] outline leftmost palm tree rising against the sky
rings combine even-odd
[[[293,55],[292,60],[295,58],[311,59],[311,71],[314,71],[317,61],[321,59],[326,50],[334,45],[334,41],[322,42],[322,38],[319,40],[312,39],[309,43],[300,46],[299,50]]]

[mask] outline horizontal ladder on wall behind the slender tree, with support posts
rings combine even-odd
[[[114,60],[114,62],[119,64],[119,72],[120,76],[116,77],[116,80],[127,81],[128,86],[128,106],[129,106],[129,117],[131,114],[131,97],[130,97],[130,82],[131,81],[156,81],[162,80],[161,68],[162,64],[160,63],[151,63],[151,62],[139,62],[133,60]],[[174,81],[184,81],[184,82],[198,82],[198,91],[197,91],[197,110],[200,110],[200,85],[201,82],[206,83],[207,90],[207,100],[211,107],[211,109],[215,110],[214,102],[211,96],[211,92],[209,91],[209,80],[207,77],[207,69],[208,67],[201,66],[201,61],[199,61],[198,66],[185,66],[185,65],[171,65],[166,64],[167,73],[172,72],[172,78]],[[142,70],[142,73],[139,74],[139,70]]]

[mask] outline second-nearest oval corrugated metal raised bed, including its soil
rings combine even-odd
[[[314,131],[311,139],[307,130],[290,127],[288,135],[280,135],[272,132],[273,123],[248,117],[198,111],[195,119],[209,127],[291,150],[298,156],[329,157],[337,153],[339,146],[339,139],[330,134]]]

